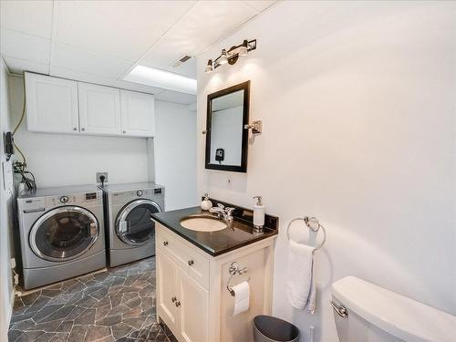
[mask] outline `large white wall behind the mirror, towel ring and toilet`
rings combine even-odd
[[[286,1],[198,58],[198,131],[207,94],[248,79],[264,122],[247,174],[204,170],[198,136],[198,190],[243,206],[262,194],[280,217],[274,314],[304,337],[315,325],[337,341],[330,286],[346,275],[456,314],[455,23],[451,3]],[[244,38],[250,57],[203,72]],[[284,293],[286,224],[305,214],[328,234],[314,316]]]

